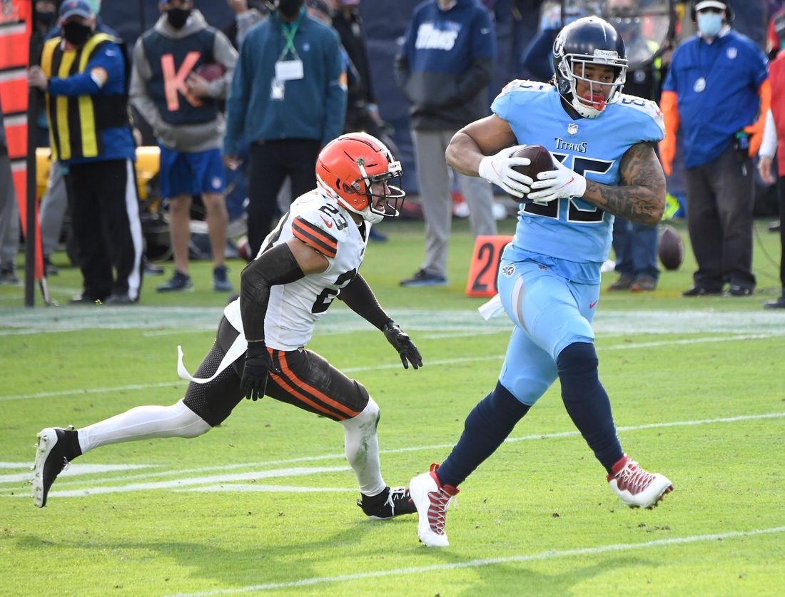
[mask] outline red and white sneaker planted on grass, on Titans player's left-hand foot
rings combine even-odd
[[[458,487],[442,485],[436,476],[438,464],[431,470],[411,479],[409,494],[417,508],[417,535],[427,548],[446,548],[450,544],[444,533],[444,518],[452,498],[458,495]]]

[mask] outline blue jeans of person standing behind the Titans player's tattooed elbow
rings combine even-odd
[[[629,278],[642,275],[657,280],[657,227],[616,217],[613,222],[613,250],[616,271]]]

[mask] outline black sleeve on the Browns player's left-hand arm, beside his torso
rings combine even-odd
[[[300,265],[286,243],[261,253],[240,274],[240,315],[246,340],[265,340],[265,315],[270,288],[304,278]]]

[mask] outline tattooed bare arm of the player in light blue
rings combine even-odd
[[[587,179],[581,198],[625,220],[657,224],[665,209],[665,174],[652,144],[637,143],[625,151],[618,187]]]

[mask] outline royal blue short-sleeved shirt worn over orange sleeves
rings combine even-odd
[[[755,122],[766,64],[761,49],[736,31],[710,44],[696,35],[677,47],[663,91],[677,94],[685,168],[714,162],[736,131]]]

